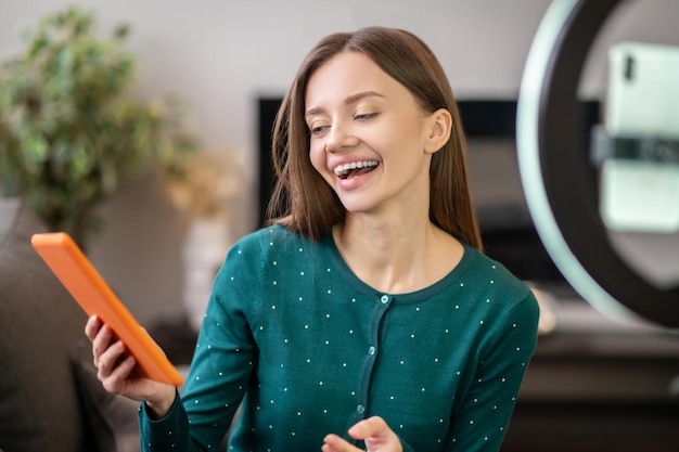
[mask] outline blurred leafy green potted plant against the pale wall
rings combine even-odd
[[[153,169],[180,170],[197,148],[178,102],[129,93],[128,34],[121,24],[99,39],[94,14],[69,8],[42,18],[0,69],[0,190],[82,247],[106,196]]]

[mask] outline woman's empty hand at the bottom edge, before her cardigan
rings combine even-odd
[[[402,452],[403,447],[398,436],[380,416],[369,417],[356,423],[349,428],[349,436],[366,442],[368,452]],[[321,447],[323,452],[356,452],[361,451],[356,445],[342,439],[337,435],[328,435]],[[362,452],[362,451],[361,451]]]

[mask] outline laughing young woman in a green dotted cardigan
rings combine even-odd
[[[321,40],[274,128],[271,225],[216,277],[185,389],[134,377],[90,319],[145,451],[496,451],[536,344],[531,292],[481,248],[434,54],[371,27]]]

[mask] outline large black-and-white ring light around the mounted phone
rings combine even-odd
[[[571,285],[618,319],[679,326],[679,287],[661,289],[612,247],[599,215],[589,131],[576,127],[577,87],[589,48],[620,0],[555,0],[533,41],[521,82],[516,140],[536,230]]]

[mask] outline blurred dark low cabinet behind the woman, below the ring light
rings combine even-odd
[[[679,451],[679,335],[560,300],[502,452]]]

